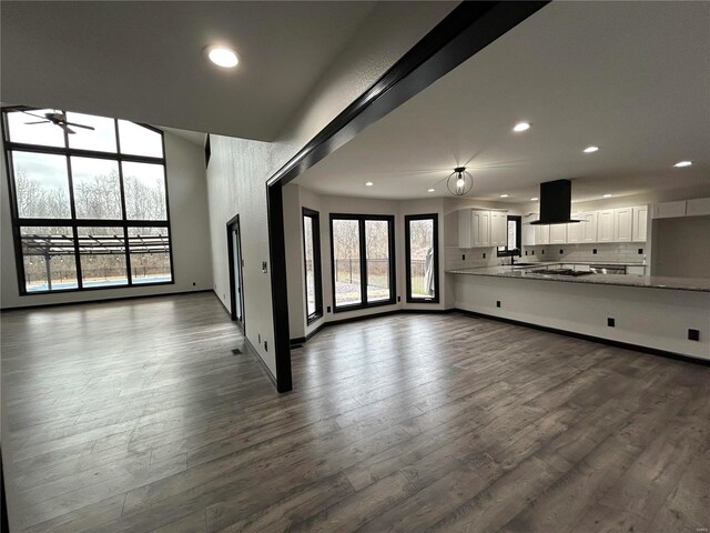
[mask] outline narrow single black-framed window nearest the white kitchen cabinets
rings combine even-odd
[[[404,231],[407,302],[438,303],[438,215],[405,215]]]

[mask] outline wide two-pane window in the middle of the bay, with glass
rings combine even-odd
[[[395,302],[394,217],[332,214],[334,311]]]

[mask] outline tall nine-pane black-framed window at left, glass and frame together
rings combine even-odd
[[[2,119],[20,294],[173,282],[160,130],[50,109]]]

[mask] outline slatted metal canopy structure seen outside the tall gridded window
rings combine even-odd
[[[126,239],[123,235],[78,235],[79,253],[87,255],[124,255]],[[166,234],[129,235],[129,251],[136,253],[169,253]],[[73,235],[22,235],[24,255],[73,255]]]

